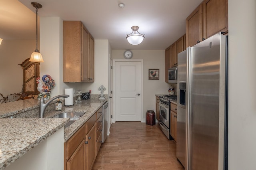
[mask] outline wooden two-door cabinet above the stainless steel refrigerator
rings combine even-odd
[[[228,32],[228,0],[204,0],[186,19],[186,47]]]

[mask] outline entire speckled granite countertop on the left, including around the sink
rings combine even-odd
[[[72,123],[69,127],[64,128],[64,142],[66,142],[107,101],[107,99],[99,100],[98,95],[92,95],[91,99],[81,101],[82,103],[80,104],[74,102],[72,106],[63,106],[62,111],[48,111],[45,113],[44,118],[22,118],[23,115],[21,118],[0,119],[0,170],[11,162],[14,162],[14,160],[28,152],[31,148],[66,125],[69,121],[68,118],[52,117],[63,112],[85,112],[80,119]],[[62,102],[62,104],[64,105],[64,102]],[[39,102],[37,99],[3,103],[0,104],[0,118],[10,116],[18,117],[19,114],[24,111],[38,111],[38,107]],[[38,113],[35,114],[37,117]],[[32,115],[32,117],[33,116],[34,115]],[[30,132],[31,135],[28,134],[28,132]],[[19,141],[16,137],[23,140]],[[13,142],[15,140],[17,140],[17,143]]]

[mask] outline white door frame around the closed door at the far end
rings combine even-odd
[[[116,62],[140,62],[140,76],[141,76],[141,79],[140,79],[140,89],[141,89],[141,92],[140,92],[140,104],[141,104],[141,107],[140,107],[140,122],[143,122],[143,59],[113,59],[113,75],[112,75],[112,78],[113,78],[113,82],[112,82],[112,85],[113,85],[113,94],[112,94],[112,101],[113,101],[113,105],[116,104],[116,99],[115,99],[115,95],[116,95],[116,85],[115,85],[115,81],[116,81],[116,75],[115,75],[115,72],[116,72]],[[116,123],[116,109],[115,107],[112,107],[112,123]]]

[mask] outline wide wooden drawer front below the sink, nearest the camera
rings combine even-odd
[[[70,156],[74,153],[78,145],[86,136],[86,123],[78,129],[78,131],[64,143],[65,148],[65,158],[68,160]]]

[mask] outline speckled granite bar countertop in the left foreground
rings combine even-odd
[[[69,119],[0,119],[0,170],[40,144]]]

